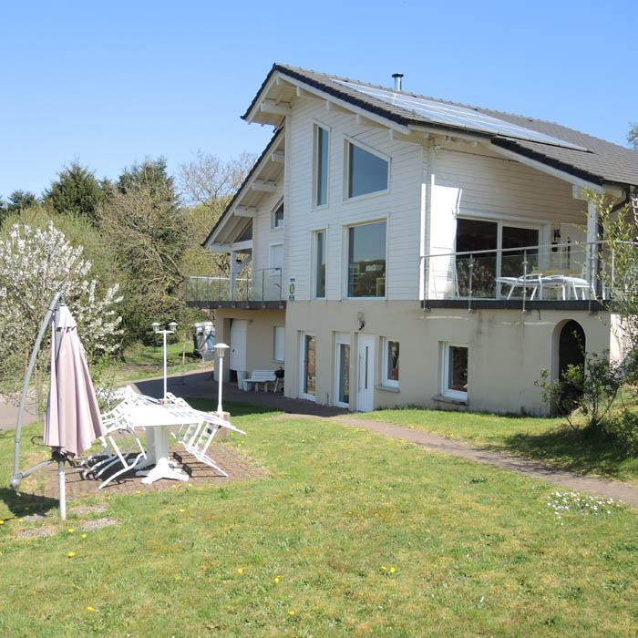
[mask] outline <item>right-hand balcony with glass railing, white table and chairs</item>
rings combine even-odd
[[[423,268],[426,308],[570,306],[594,312],[618,288],[606,242],[432,254],[423,258]]]

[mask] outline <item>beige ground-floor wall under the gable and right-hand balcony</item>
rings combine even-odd
[[[316,400],[334,405],[335,332],[350,334],[350,408],[356,409],[357,313],[364,313],[364,334],[376,337],[375,407],[446,407],[434,399],[441,391],[441,344],[468,345],[468,409],[499,413],[547,414],[534,381],[540,370],[558,367],[556,334],[573,319],[583,327],[589,350],[610,347],[609,315],[561,310],[432,309],[415,302],[289,302],[286,316],[286,396],[299,396],[301,335],[316,335]],[[294,326],[294,329],[293,327]],[[379,386],[381,343],[400,344],[396,389]]]

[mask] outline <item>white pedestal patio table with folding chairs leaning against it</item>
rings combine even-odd
[[[175,406],[145,405],[131,406],[129,417],[132,423],[146,427],[146,447],[147,459],[139,467],[147,467],[155,464],[150,470],[142,470],[136,476],[146,476],[142,478],[142,483],[150,483],[160,480],[160,478],[170,478],[173,480],[189,480],[189,475],[184,474],[180,469],[172,468],[169,461],[170,428],[185,424],[197,423],[197,417],[189,415],[188,410],[179,414],[180,410],[175,410]]]

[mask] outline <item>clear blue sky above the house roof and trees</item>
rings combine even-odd
[[[623,146],[638,121],[635,3],[11,3],[0,11],[0,195],[74,160],[258,152],[240,116],[273,62],[558,121]]]

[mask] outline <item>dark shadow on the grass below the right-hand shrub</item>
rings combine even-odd
[[[626,460],[617,444],[586,432],[560,426],[541,434],[513,434],[503,439],[504,447],[525,458],[552,461],[582,474],[618,476]]]

